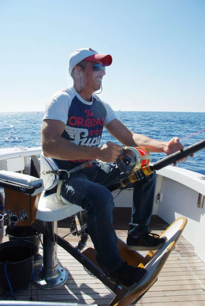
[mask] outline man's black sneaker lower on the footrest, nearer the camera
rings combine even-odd
[[[146,269],[129,266],[125,261],[118,270],[107,273],[107,276],[116,286],[133,289],[145,278],[147,273]]]

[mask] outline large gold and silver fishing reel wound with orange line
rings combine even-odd
[[[124,173],[132,174],[150,164],[150,154],[142,147],[124,147],[116,160],[117,166]]]

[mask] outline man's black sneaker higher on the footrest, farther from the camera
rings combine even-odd
[[[158,234],[146,233],[139,237],[127,236],[127,249],[128,250],[157,250],[162,247],[167,241],[167,237],[159,237]]]

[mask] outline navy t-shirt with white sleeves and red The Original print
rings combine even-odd
[[[116,115],[112,108],[97,96],[93,95],[93,101],[87,102],[78,95],[73,87],[70,87],[52,96],[47,103],[44,119],[59,120],[65,123],[65,129],[61,135],[64,139],[78,146],[99,147],[103,126],[116,119]],[[66,170],[71,170],[86,161],[55,159],[59,169]],[[92,168],[93,171],[96,166],[97,162],[92,163],[85,170],[89,172]]]

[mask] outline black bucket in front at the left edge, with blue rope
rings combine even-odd
[[[0,287],[3,290],[10,290],[6,274],[13,292],[25,288],[31,282],[36,252],[36,245],[26,240],[13,240],[0,244]]]

